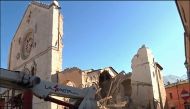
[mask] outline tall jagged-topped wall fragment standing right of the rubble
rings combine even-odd
[[[163,109],[166,101],[163,68],[145,45],[133,57],[131,68],[132,100],[137,108]]]

